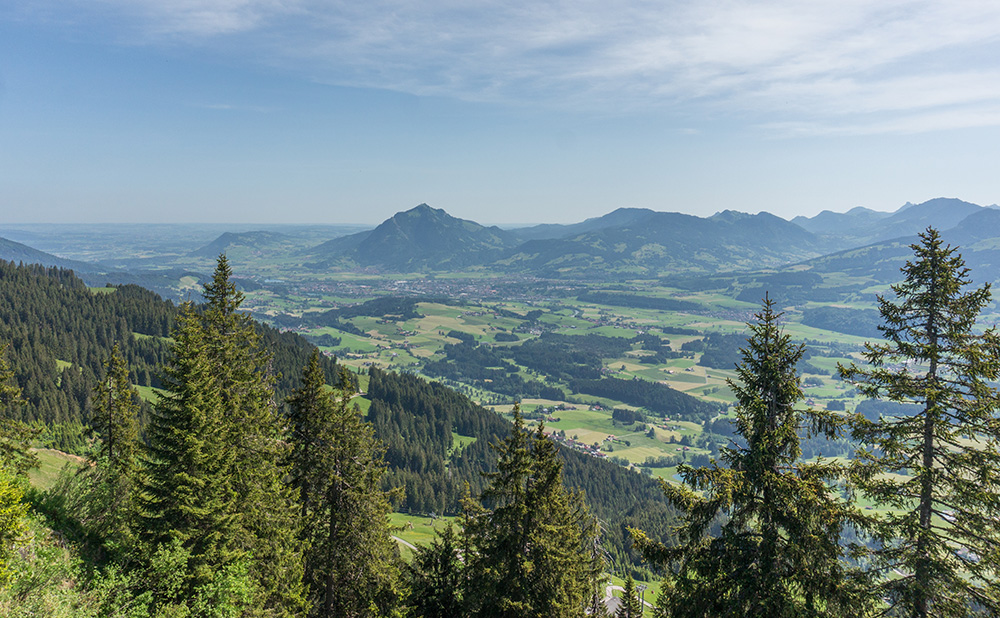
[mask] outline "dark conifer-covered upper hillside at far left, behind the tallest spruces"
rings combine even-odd
[[[15,381],[27,399],[6,413],[47,425],[85,425],[96,376],[116,343],[132,383],[159,386],[176,313],[173,303],[138,286],[94,291],[70,270],[0,261],[0,345],[9,344]],[[312,346],[298,335],[258,329],[274,354],[283,398],[298,386]],[[333,361],[324,358],[323,366],[335,382]]]

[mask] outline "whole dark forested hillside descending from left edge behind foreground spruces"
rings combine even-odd
[[[8,359],[27,400],[5,413],[59,428],[50,431],[58,436],[54,446],[82,448],[96,376],[112,346],[118,344],[134,384],[157,387],[176,316],[171,302],[137,286],[95,291],[72,271],[0,263],[0,345],[10,344]],[[292,333],[257,328],[273,354],[277,397],[284,401],[299,387],[312,346]],[[323,358],[322,367],[328,383],[336,383],[334,361]],[[473,493],[485,487],[482,473],[494,462],[489,444],[510,431],[501,416],[441,384],[378,369],[371,370],[367,395],[368,420],[387,449],[387,485],[406,487],[399,508],[456,513],[466,483]],[[453,434],[476,440],[456,452]],[[560,455],[566,485],[586,491],[617,560],[637,559],[626,556],[627,526],[668,529],[673,512],[652,479],[576,451]]]

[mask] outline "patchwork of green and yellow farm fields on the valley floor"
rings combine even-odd
[[[366,300],[392,298],[385,290],[381,290],[381,295],[376,294],[377,290],[379,286],[371,286],[369,296],[354,302],[344,302],[347,300],[344,296],[326,297],[320,308],[308,306],[315,298],[292,299],[286,305],[272,305],[272,308],[280,312],[294,305],[300,315],[308,315],[319,310],[356,309]],[[571,387],[572,379],[566,375],[516,354],[516,348],[528,342],[561,337],[558,341],[568,346],[566,354],[572,355],[586,349],[596,335],[598,342],[612,342],[607,348],[615,350],[599,359],[603,378],[664,385],[714,405],[714,416],[726,418],[734,401],[728,381],[736,377],[732,367],[739,361],[738,354],[727,352],[729,356],[725,358],[731,363],[730,368],[706,366],[702,362],[706,353],[704,344],[714,335],[743,333],[745,321],[752,318],[756,305],[716,292],[682,295],[678,290],[656,288],[650,295],[680,298],[699,309],[660,311],[584,302],[572,296],[504,301],[417,299],[412,312],[406,315],[374,311],[374,315],[367,315],[351,309],[338,317],[336,326],[304,320],[297,330],[316,341],[325,353],[359,372],[362,391],[365,372],[379,367],[441,380],[503,414],[509,414],[514,402],[520,401],[529,423],[544,420],[546,431],[567,444],[577,448],[587,445],[592,450],[597,445],[602,457],[639,473],[678,481],[677,464],[692,461],[703,464],[717,454],[718,447],[726,444],[727,439],[708,434],[703,420],[671,419],[669,413],[653,412],[642,405],[576,392]],[[252,292],[248,297],[264,299],[263,295]],[[823,408],[836,402],[837,407],[843,404],[852,409],[860,398],[850,385],[836,377],[837,366],[857,360],[865,339],[805,326],[800,319],[801,314],[794,307],[786,312],[786,332],[794,340],[807,343],[809,350],[801,373],[806,393],[803,405]],[[655,352],[647,349],[649,345],[644,341],[649,337],[662,347]],[[579,350],[574,341],[580,342]],[[621,343],[615,345],[615,341]],[[509,390],[497,390],[499,387],[490,378],[449,378],[428,371],[431,365],[440,371],[442,363],[454,362],[456,346],[489,350],[490,358],[494,359],[490,362],[505,366],[510,376],[525,384],[535,382],[558,388],[561,396],[538,397],[530,393],[517,396]],[[363,396],[356,401],[362,409],[367,407]],[[616,409],[638,411],[644,418],[626,424],[612,418]],[[460,446],[460,440],[456,436],[456,447]]]

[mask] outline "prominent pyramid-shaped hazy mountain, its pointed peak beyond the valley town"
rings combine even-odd
[[[487,264],[517,239],[498,227],[459,219],[427,204],[399,212],[370,232],[334,239],[310,250],[314,266],[353,263],[395,272]]]

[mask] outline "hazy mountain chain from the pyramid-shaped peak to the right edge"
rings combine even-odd
[[[696,217],[619,208],[575,224],[502,230],[421,204],[372,230],[307,249],[304,255],[314,269],[416,272],[487,268],[548,278],[620,278],[778,268],[890,242],[890,246],[902,248],[890,251],[887,258],[894,272],[899,255],[928,225],[955,229],[957,234],[972,233],[981,243],[988,235],[989,228],[983,227],[992,216],[988,213],[1000,210],[952,198],[907,203],[893,213],[855,208],[792,221],[766,212],[751,215],[726,210]],[[976,217],[982,221],[965,224],[969,229],[962,232],[964,222]],[[1000,234],[992,237],[996,236]],[[893,245],[891,241],[899,238],[908,240]],[[963,243],[968,244],[964,237]],[[872,248],[867,253],[872,251],[882,249]]]

